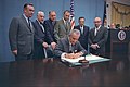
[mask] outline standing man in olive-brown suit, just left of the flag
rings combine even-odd
[[[68,10],[64,11],[63,18],[57,21],[54,27],[54,35],[56,40],[67,36],[70,32],[70,22],[69,22],[70,12]]]

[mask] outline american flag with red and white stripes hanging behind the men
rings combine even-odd
[[[73,29],[75,26],[74,0],[70,0],[70,25]]]

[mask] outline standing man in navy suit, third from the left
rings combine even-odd
[[[51,46],[54,49],[56,46],[56,39],[54,37],[54,26],[56,23],[56,12],[55,11],[50,11],[49,12],[49,20],[44,21],[44,28],[49,32],[52,42]]]

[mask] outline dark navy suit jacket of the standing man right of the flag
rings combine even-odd
[[[74,28],[80,30],[81,34],[80,25],[75,26]],[[83,26],[83,34],[80,35],[79,42],[86,50],[88,50],[88,38],[89,38],[89,27]]]

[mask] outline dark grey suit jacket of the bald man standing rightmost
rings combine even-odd
[[[107,28],[101,26],[98,30],[96,36],[94,35],[95,28],[92,28],[89,34],[89,45],[98,44],[100,46],[99,49],[94,50],[90,48],[90,52],[99,55],[105,54],[105,42],[107,41],[108,32]]]

